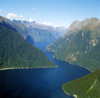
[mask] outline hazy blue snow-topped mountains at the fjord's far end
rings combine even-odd
[[[12,20],[12,22],[24,24],[28,35],[33,38],[34,42],[53,42],[66,31],[64,27],[46,26],[35,21]]]

